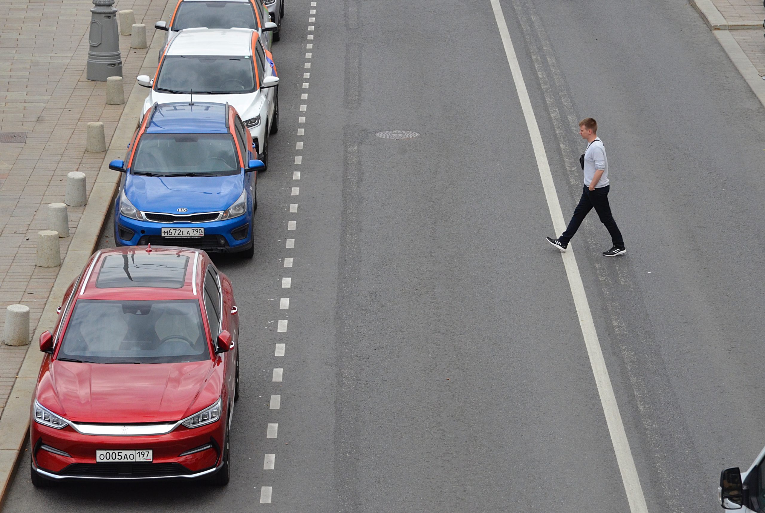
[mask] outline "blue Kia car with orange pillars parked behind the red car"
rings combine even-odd
[[[252,258],[252,137],[228,103],[156,104],[135,131],[114,203],[118,245],[173,245]]]

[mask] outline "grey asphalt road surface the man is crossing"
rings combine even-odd
[[[244,336],[232,481],[36,490],[24,460],[3,511],[637,513],[491,0],[315,3],[275,44],[255,258],[217,258]],[[566,220],[577,122],[601,125],[628,252],[601,256],[594,213],[571,246],[638,492],[719,511],[720,470],[765,443],[765,110],[681,0],[500,4]]]

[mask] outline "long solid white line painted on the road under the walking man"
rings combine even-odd
[[[536,123],[529,92],[526,90],[526,82],[523,80],[518,57],[516,57],[513,41],[507,29],[500,0],[491,0],[491,5],[494,11],[494,18],[496,18],[496,25],[500,29],[500,37],[502,37],[502,43],[505,47],[507,63],[509,63],[510,71],[513,74],[513,82],[516,86],[523,116],[526,118],[526,128],[529,130],[529,137],[534,148],[539,177],[542,179],[542,187],[545,190],[547,206],[552,217],[552,226],[555,229],[555,233],[562,233],[565,230],[565,221],[560,203],[558,203],[555,183],[552,181],[552,174],[550,173],[550,166],[547,154],[545,153],[545,144],[542,141],[542,134],[539,132],[539,125]],[[568,286],[571,288],[571,295],[574,297],[574,304],[579,317],[579,326],[582,336],[584,336],[584,345],[587,347],[588,356],[590,357],[592,373],[595,377],[597,392],[601,397],[601,405],[606,417],[611,443],[614,446],[614,453],[617,456],[617,463],[621,472],[624,490],[627,493],[627,502],[630,504],[630,511],[632,513],[648,513],[646,498],[643,495],[643,489],[640,487],[640,478],[637,475],[635,461],[630,451],[630,443],[627,440],[627,433],[624,431],[624,425],[619,413],[619,405],[617,404],[616,396],[614,396],[614,388],[611,386],[608,369],[606,369],[606,362],[601,351],[601,343],[597,339],[597,332],[592,320],[587,294],[584,292],[584,284],[581,281],[579,268],[571,245],[569,245],[568,252],[561,253],[561,256],[566,275],[568,276]]]

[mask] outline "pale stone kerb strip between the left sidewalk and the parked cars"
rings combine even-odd
[[[164,6],[162,18],[168,18],[175,2]],[[140,73],[153,74],[157,67],[159,48],[164,42],[161,31],[155,33],[151,47],[146,52]],[[83,60],[82,69],[86,67]],[[112,86],[113,87],[113,86]],[[125,148],[132,138],[141,116],[143,102],[148,96],[148,89],[134,83],[116,130],[106,148],[103,162],[90,190],[90,196],[84,207],[80,222],[74,232],[66,256],[60,265],[56,281],[47,297],[44,309],[34,330],[31,343],[27,346],[26,354],[8,401],[0,417],[0,507],[8,492],[14,470],[25,469],[26,460],[23,458],[24,440],[29,426],[29,409],[34,386],[37,383],[37,372],[40,369],[43,353],[37,349],[37,340],[45,330],[52,330],[57,322],[57,307],[67,287],[82,271],[83,265],[93,254],[104,219],[112,206],[112,198],[119,184],[120,174],[109,170],[109,161],[125,156]],[[84,142],[84,141],[83,141]],[[84,148],[84,144],[83,144]]]

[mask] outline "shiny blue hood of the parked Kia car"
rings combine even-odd
[[[144,212],[184,213],[225,210],[239,198],[244,187],[243,174],[226,177],[145,177],[128,174],[125,196]]]

